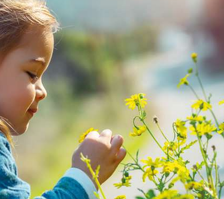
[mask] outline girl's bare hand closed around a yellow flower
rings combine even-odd
[[[72,167],[81,169],[92,179],[89,169],[80,159],[80,153],[83,153],[85,157],[91,160],[91,166],[94,171],[100,165],[98,180],[102,184],[112,175],[119,163],[124,159],[126,151],[121,147],[122,144],[122,136],[112,136],[112,132],[109,129],[102,131],[101,134],[92,131],[74,152]]]

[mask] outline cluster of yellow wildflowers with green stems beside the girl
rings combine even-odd
[[[184,120],[177,119],[172,124],[174,135],[172,140],[169,140],[160,128],[157,117],[154,117],[153,120],[165,140],[163,145],[159,143],[146,124],[147,113],[144,107],[147,105],[147,99],[145,94],[135,94],[125,100],[130,109],[137,109],[138,111],[138,114],[133,119],[133,132],[130,133],[130,136],[141,136],[143,133],[148,132],[164,154],[163,157],[155,159],[149,156],[146,159],[139,160],[138,152],[133,157],[127,151],[133,162],[124,164],[121,181],[115,183],[114,186],[117,188],[131,186],[132,177],[130,173],[134,170],[142,172],[143,182],[151,181],[155,185],[154,188],[150,188],[147,192],[139,189],[142,196],[136,197],[136,199],[221,199],[222,197],[224,181],[221,181],[219,175],[217,151],[214,145],[211,148],[209,147],[209,142],[215,134],[222,139],[224,138],[224,122],[218,122],[212,110],[211,95],[207,96],[204,90],[197,67],[197,54],[193,53],[191,57],[195,68],[188,70],[187,75],[180,80],[177,87],[186,85],[192,90],[197,99],[191,106],[192,114]],[[202,89],[203,98],[199,97],[188,81],[188,77],[193,74]],[[219,102],[219,105],[222,104],[224,104],[224,100]],[[210,112],[214,122],[208,119],[203,114],[204,112]],[[136,125],[137,122],[140,122],[141,125]],[[189,134],[194,137],[193,141],[188,141]],[[183,158],[183,154],[195,144],[199,145],[202,161],[196,162],[193,166],[188,166],[190,162]],[[212,155],[209,155],[209,150],[212,150]],[[88,162],[84,157],[82,159]],[[88,164],[90,166],[90,162]],[[93,176],[95,175],[93,174]],[[94,179],[97,180],[96,177]],[[183,185],[185,191],[180,192],[175,188],[178,183]],[[105,195],[102,195],[105,199]],[[99,195],[97,197],[100,198]],[[125,195],[121,195],[115,199],[125,198]]]

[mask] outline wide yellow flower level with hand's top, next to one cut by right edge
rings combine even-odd
[[[196,128],[194,126],[190,126],[189,129],[192,135],[198,134],[199,136],[202,136],[204,134],[212,133],[216,130],[216,127],[214,124],[212,125],[210,123],[201,123],[197,124]]]

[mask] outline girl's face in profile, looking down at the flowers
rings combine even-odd
[[[47,92],[42,76],[52,57],[53,34],[44,29],[29,28],[17,48],[0,62],[0,116],[16,132],[24,133]]]

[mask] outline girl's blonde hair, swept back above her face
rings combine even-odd
[[[0,0],[0,56],[15,48],[30,26],[53,33],[59,29],[56,18],[42,0]],[[0,131],[12,144],[8,123],[0,117]]]

